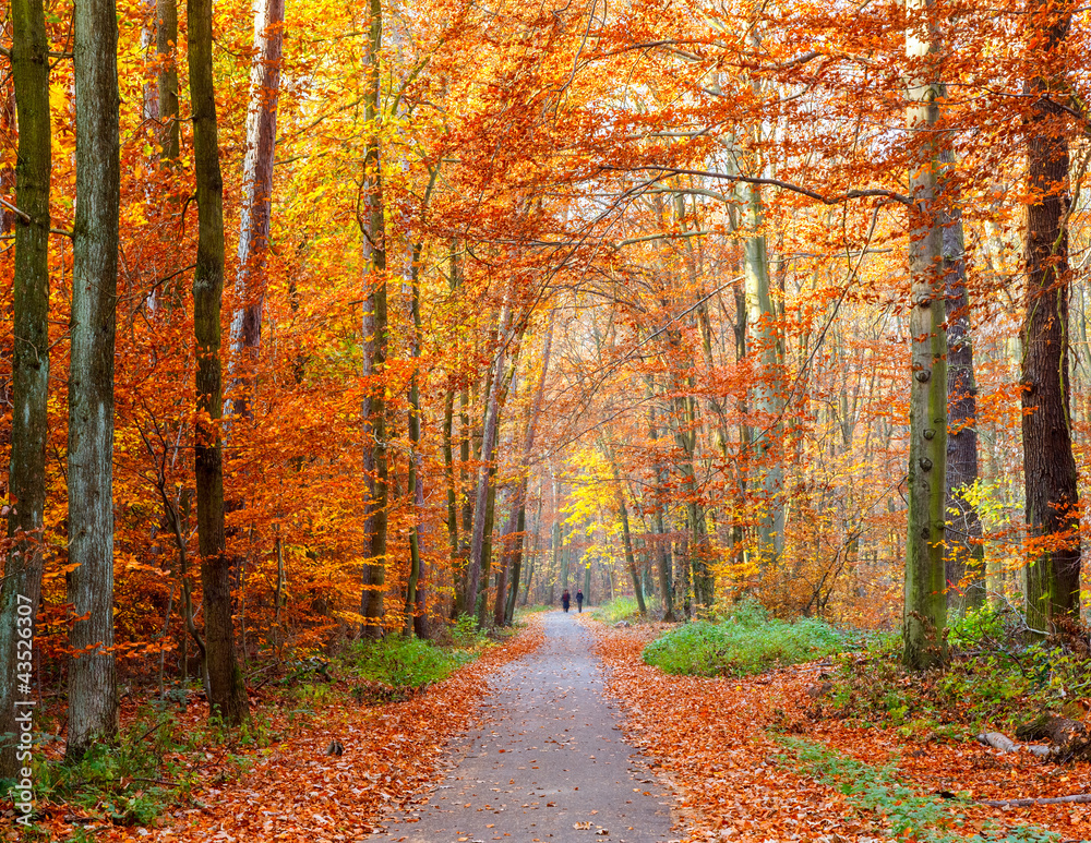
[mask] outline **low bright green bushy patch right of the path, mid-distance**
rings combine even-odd
[[[664,673],[746,676],[841,652],[846,637],[815,618],[770,618],[755,601],[741,603],[724,621],[697,621],[644,648],[644,661]]]

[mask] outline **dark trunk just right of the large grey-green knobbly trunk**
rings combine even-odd
[[[955,155],[945,149],[948,167]],[[985,603],[985,546],[981,518],[969,490],[978,481],[978,389],[973,377],[970,297],[966,289],[962,212],[948,197],[944,213],[944,300],[947,317],[947,543],[948,609],[980,609]],[[963,580],[968,580],[964,583]]]

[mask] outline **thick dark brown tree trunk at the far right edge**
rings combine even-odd
[[[1071,5],[1030,0],[1029,28],[1048,67],[1068,37]],[[1072,456],[1068,368],[1068,139],[1051,97],[1067,96],[1064,73],[1028,83],[1027,315],[1023,322],[1022,439],[1027,525],[1032,540],[1024,575],[1027,624],[1046,630],[1053,617],[1080,612],[1079,491]]]

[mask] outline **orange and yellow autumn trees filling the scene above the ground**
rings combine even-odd
[[[183,5],[2,3],[0,778],[577,591],[1087,674],[1088,9]]]

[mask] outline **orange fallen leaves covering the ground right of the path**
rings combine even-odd
[[[1047,797],[1091,791],[1091,764],[1058,767],[1028,754],[1000,755],[976,744],[909,744],[889,730],[815,722],[807,688],[813,666],[743,679],[668,676],[640,659],[661,625],[632,629],[590,625],[610,669],[608,693],[627,714],[626,734],[676,791],[687,841],[805,840],[841,843],[884,839],[874,811],[782,760],[786,749],[765,732],[776,726],[875,766],[895,757],[898,774],[922,796],[969,792],[978,799]],[[1091,839],[1086,805],[990,808],[949,803],[968,836],[992,821],[1033,823],[1064,840]]]

